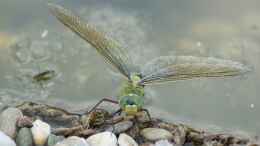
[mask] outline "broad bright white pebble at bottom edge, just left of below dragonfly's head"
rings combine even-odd
[[[117,138],[112,132],[102,132],[87,138],[91,146],[117,146]]]

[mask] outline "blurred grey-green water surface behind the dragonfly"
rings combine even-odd
[[[150,86],[147,107],[168,120],[260,135],[258,0],[0,1],[2,99],[55,99],[85,108],[115,96],[121,85],[121,75],[51,16],[47,2],[71,9],[109,33],[138,65],[161,55],[193,55],[252,66],[251,73],[240,77]],[[51,81],[43,86],[32,81],[46,70],[56,72]]]

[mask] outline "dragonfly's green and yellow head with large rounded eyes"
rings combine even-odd
[[[134,115],[142,108],[143,100],[136,94],[128,94],[120,99],[119,104],[127,115]]]

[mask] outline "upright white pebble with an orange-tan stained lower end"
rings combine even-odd
[[[36,120],[33,122],[31,131],[35,145],[42,146],[46,143],[47,138],[51,133],[51,128],[49,124],[41,120]]]

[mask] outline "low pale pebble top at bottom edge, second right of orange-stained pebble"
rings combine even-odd
[[[83,138],[77,136],[71,136],[68,137],[67,139],[64,139],[61,142],[58,142],[55,146],[92,146],[92,145],[89,145],[86,142],[86,140]]]

